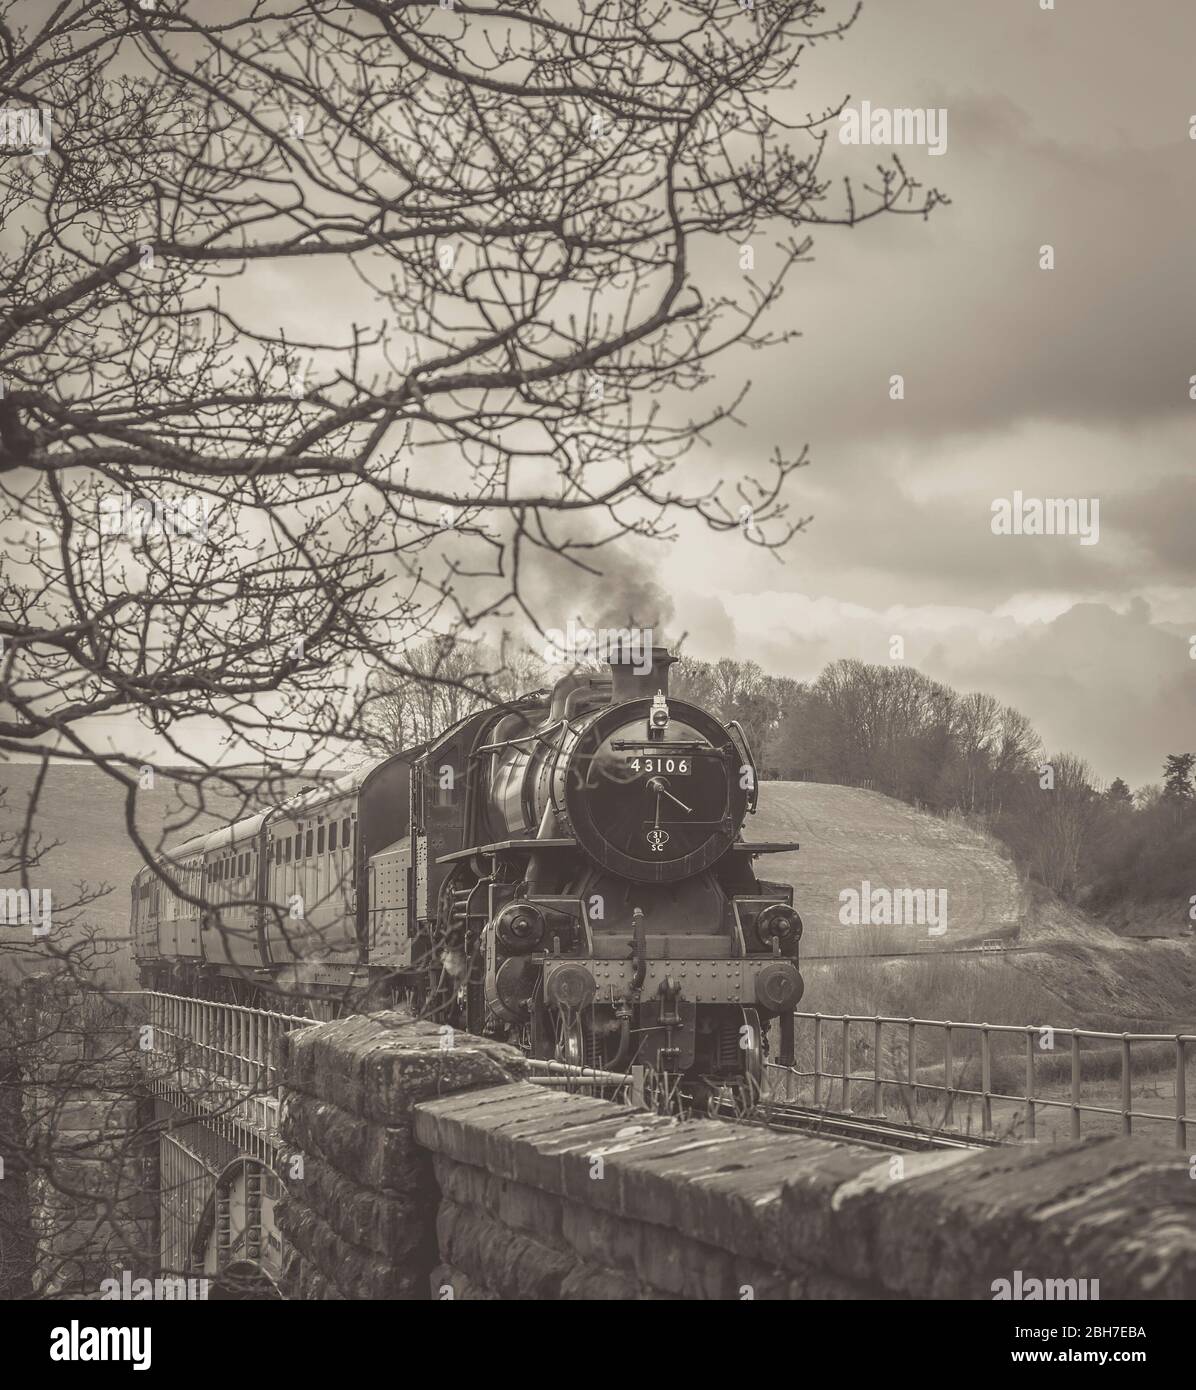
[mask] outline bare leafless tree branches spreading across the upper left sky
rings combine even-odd
[[[852,17],[4,4],[0,89],[50,126],[0,158],[0,752],[96,762],[136,837],[97,716],[250,801],[185,721],[310,759],[424,637],[534,623],[537,555],[745,505],[783,543],[800,457],[680,464],[744,399],[720,354],[789,338],[811,232],[939,202],[896,160],[829,197],[834,111],[790,89]]]

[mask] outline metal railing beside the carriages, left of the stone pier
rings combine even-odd
[[[241,1140],[273,1144],[282,1099],[278,1040],[313,1020],[153,990],[140,998],[140,1052],[154,1088],[217,1116]]]

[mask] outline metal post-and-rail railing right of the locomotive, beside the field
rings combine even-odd
[[[769,1065],[770,1091],[815,1109],[858,1113],[871,1106],[876,1116],[900,1112],[901,1119],[928,1129],[1010,1141],[1079,1138],[1090,1118],[1100,1118],[1106,1133],[1132,1134],[1138,1120],[1170,1126],[1174,1143],[1183,1148],[1188,1126],[1196,1123],[1186,1113],[1196,1034],[857,1013],[795,1013],[794,1019],[795,1065]],[[1012,1055],[1005,1054],[1007,1042]],[[1143,1099],[1164,1105],[1143,1109]],[[1044,1118],[1062,1116],[1067,1136],[1039,1133]],[[1093,1131],[1090,1126],[1088,1133]]]

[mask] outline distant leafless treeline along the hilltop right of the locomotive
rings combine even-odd
[[[834,662],[812,682],[755,662],[684,657],[674,694],[745,728],[761,773],[871,787],[1003,841],[1032,877],[1094,910],[1196,894],[1196,755],[1172,753],[1157,785],[1101,787],[1083,759],[1049,753],[992,695],[960,695],[908,666]]]

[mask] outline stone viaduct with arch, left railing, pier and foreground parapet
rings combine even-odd
[[[121,1270],[295,1300],[1196,1297],[1185,1148],[886,1154],[533,1084],[398,1013],[134,1004],[31,1013],[42,1297]]]

